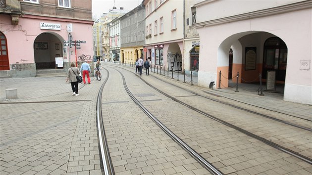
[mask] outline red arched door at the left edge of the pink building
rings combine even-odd
[[[0,71],[10,70],[6,38],[3,33],[0,32]]]

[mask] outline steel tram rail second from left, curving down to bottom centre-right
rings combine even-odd
[[[116,70],[118,71],[118,70]],[[130,98],[137,104],[142,111],[148,115],[164,132],[166,132],[175,142],[177,142],[184,150],[186,150],[193,158],[195,158],[200,164],[203,165],[210,173],[214,175],[223,175],[219,170],[217,170],[212,164],[210,164],[205,158],[203,158],[200,154],[198,154],[195,150],[193,150],[189,145],[187,145],[183,140],[181,140],[177,135],[175,135],[172,131],[170,131],[167,127],[165,127],[156,117],[150,113],[131,93],[129,88],[127,87],[126,80],[123,74],[118,71],[122,77],[124,88],[129,94]]]

